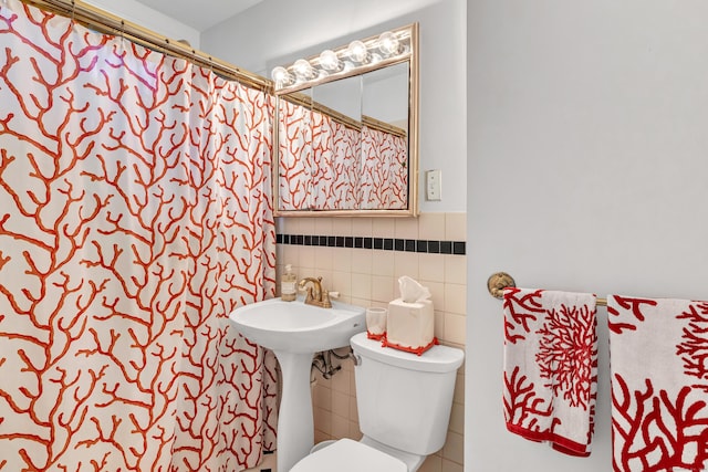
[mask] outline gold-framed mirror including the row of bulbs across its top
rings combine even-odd
[[[417,216],[416,54],[414,23],[273,70],[275,216]]]

